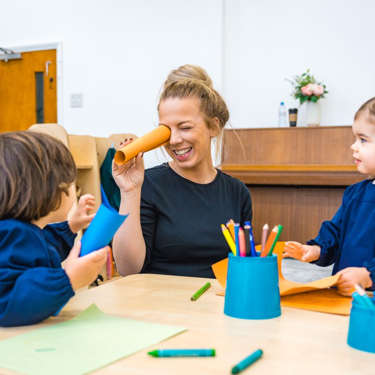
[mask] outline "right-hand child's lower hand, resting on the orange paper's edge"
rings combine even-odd
[[[354,292],[354,284],[359,284],[362,288],[370,288],[373,285],[370,272],[365,267],[344,268],[338,271],[337,275],[340,275],[337,288],[341,295],[350,297]]]

